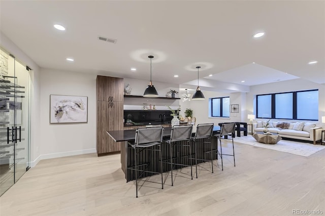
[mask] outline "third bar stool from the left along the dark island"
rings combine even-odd
[[[195,133],[195,136],[192,138],[192,140],[194,141],[194,149],[195,149],[195,162],[196,162],[196,171],[197,171],[197,178],[198,178],[198,142],[201,139],[207,138],[208,141],[203,141],[200,143],[204,144],[210,144],[210,151],[206,151],[205,153],[209,153],[210,154],[210,160],[208,159],[202,159],[200,158],[200,161],[211,161],[211,165],[212,165],[212,173],[213,173],[213,157],[212,157],[212,151],[214,151],[212,149],[212,142],[211,142],[211,138],[212,138],[212,133],[213,133],[213,123],[210,124],[198,124],[197,126],[197,131]]]

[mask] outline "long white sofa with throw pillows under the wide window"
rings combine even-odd
[[[267,121],[256,121],[256,124],[253,124],[254,131],[263,132],[264,127]],[[271,133],[277,133],[281,137],[293,138],[293,139],[303,139],[312,141],[315,145],[318,140],[321,139],[321,127],[316,127],[315,123],[306,122],[302,130],[297,130],[295,127],[296,122],[284,122],[284,121],[270,121],[272,124],[269,125],[268,130]],[[287,123],[286,127],[283,127],[283,123]],[[277,127],[281,126],[281,127]],[[294,130],[294,127],[296,130]],[[301,128],[300,128],[301,129]]]

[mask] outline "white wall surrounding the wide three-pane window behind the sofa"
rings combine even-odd
[[[321,117],[325,116],[325,86],[304,79],[295,79],[282,81],[270,84],[256,85],[250,87],[250,92],[247,93],[247,112],[256,113],[255,104],[257,94],[268,94],[278,92],[300,91],[318,89],[318,126],[321,126]]]

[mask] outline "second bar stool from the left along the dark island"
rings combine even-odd
[[[169,140],[165,140],[167,144],[169,144],[170,148],[170,154],[171,154],[171,176],[172,176],[172,186],[173,184],[173,169],[174,165],[181,165],[181,166],[188,166],[188,164],[181,164],[178,162],[178,147],[183,150],[183,147],[188,147],[189,149],[189,155],[185,155],[182,157],[188,157],[190,160],[190,166],[191,166],[191,179],[193,179],[193,174],[192,174],[192,152],[191,152],[191,145],[190,145],[190,138],[192,134],[192,125],[186,125],[186,126],[173,126],[172,131],[171,131],[171,137]],[[181,141],[181,142],[180,142]],[[176,158],[173,158],[173,147],[176,146]],[[176,163],[173,163],[173,159],[177,159]]]

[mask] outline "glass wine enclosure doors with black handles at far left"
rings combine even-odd
[[[0,50],[0,195],[29,168],[29,73]]]

